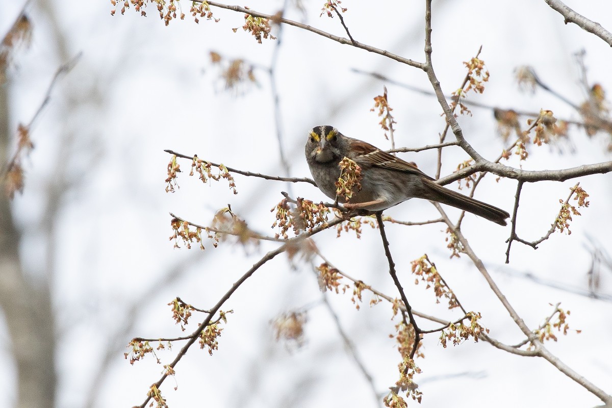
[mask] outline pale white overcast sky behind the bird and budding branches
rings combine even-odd
[[[238,194],[226,181],[203,185],[188,177],[190,161],[181,160],[184,172],[180,189],[165,192],[166,165],[163,149],[199,157],[227,166],[264,174],[283,175],[275,128],[271,81],[267,71],[276,46],[274,40],[255,39],[242,31],[242,13],[213,9],[218,23],[201,19],[195,24],[187,13],[184,21],[166,27],[154,7],[140,17],[133,9],[112,17],[110,2],[53,5],[53,18],[42,11],[43,0],[28,6],[34,24],[32,43],[18,54],[10,70],[12,123],[27,122],[40,105],[62,53],[82,52],[76,67],[53,90],[51,102],[37,122],[32,138],[35,149],[25,162],[23,195],[13,202],[15,222],[22,230],[23,264],[32,276],[43,278],[48,258],[43,245],[45,197],[62,189],[54,220],[54,272],[51,276],[58,310],[58,406],[127,407],[140,405],[148,387],[159,379],[161,365],[147,356],[130,366],[122,345],[135,336],[180,336],[166,303],[180,296],[185,302],[209,308],[254,262],[275,244],[243,248],[233,240],[206,250],[180,250],[168,240],[170,215],[199,224],[210,224],[217,209],[231,204],[255,231],[272,235],[270,210],[291,189],[293,196],[314,201],[326,199],[308,184],[290,187],[282,182],[237,175]],[[246,4],[253,10],[274,14],[281,1]],[[304,2],[305,11],[293,2],[285,17],[324,31],[345,36],[338,18],[319,18],[323,1]],[[568,6],[612,29],[612,3],[567,1]],[[4,33],[23,6],[2,6],[0,32]],[[244,4],[241,4],[244,6]],[[368,45],[424,61],[424,2],[384,1],[376,4],[345,0],[345,23],[354,39]],[[232,28],[239,28],[236,33]],[[278,28],[273,28],[277,34]],[[59,37],[58,37],[59,35]],[[58,42],[58,38],[61,39]],[[373,97],[386,85],[397,121],[398,146],[424,146],[438,141],[444,128],[435,98],[376,80],[363,73],[378,72],[403,84],[429,90],[427,76],[418,69],[385,57],[340,45],[324,37],[285,26],[275,65],[280,100],[282,144],[290,163],[290,175],[310,177],[304,160],[308,130],[329,124],[347,136],[390,148],[370,112]],[[537,112],[550,109],[563,119],[580,120],[571,106],[541,89],[521,92],[513,70],[531,65],[542,81],[575,103],[584,100],[574,54],[585,50],[590,83],[600,83],[610,93],[612,53],[603,40],[562,17],[544,1],[477,2],[436,0],[433,9],[433,62],[442,89],[457,89],[465,76],[462,62],[482,45],[480,54],[490,72],[483,95],[468,100],[501,108]],[[258,84],[226,91],[220,71],[209,52],[224,58],[242,58],[256,66]],[[473,108],[473,116],[458,120],[468,141],[484,157],[494,160],[506,144],[499,137],[490,109]],[[521,119],[524,125],[526,118]],[[510,166],[524,169],[570,168],[608,161],[605,146],[610,136],[588,138],[570,128],[571,143],[529,147],[529,160],[513,157]],[[452,140],[452,135],[449,136]],[[404,154],[433,176],[436,152]],[[468,156],[460,149],[445,150],[442,175],[450,174]],[[58,164],[59,163],[59,164]],[[60,165],[61,164],[61,165]],[[543,236],[578,180],[525,185],[517,232],[535,240]],[[587,276],[592,243],[612,253],[612,180],[610,174],[583,177],[591,205],[574,217],[572,234],[555,233],[537,251],[519,243],[512,247],[510,264],[504,264],[510,228],[466,215],[462,231],[485,262],[526,323],[535,328],[551,313],[551,305],[571,310],[570,327],[577,335],[559,336],[551,351],[578,373],[612,392],[612,329],[610,300],[589,299]],[[59,187],[63,186],[63,187]],[[454,188],[454,186],[452,186]],[[476,198],[512,210],[516,183],[487,176]],[[464,193],[466,190],[463,191]],[[458,211],[447,209],[452,217]],[[423,221],[438,217],[427,201],[411,200],[389,210],[398,220]],[[442,319],[457,319],[457,312],[435,305],[423,284],[413,286],[410,261],[427,253],[468,310],[482,313],[491,336],[507,344],[523,337],[494,297],[467,256],[449,259],[441,224],[423,227],[392,225],[387,228],[398,274],[412,306]],[[387,273],[378,231],[364,227],[360,240],[353,233],[336,239],[335,231],[315,238],[319,249],[338,268],[395,297]],[[195,246],[197,247],[197,246]],[[315,259],[315,264],[321,262]],[[532,274],[549,285],[524,278]],[[170,276],[170,277],[168,277]],[[601,293],[612,294],[610,270],[604,272]],[[551,287],[556,284],[558,288]],[[395,322],[390,307],[368,307],[369,295],[356,311],[350,295],[330,295],[341,325],[356,344],[364,365],[381,395],[397,380],[400,357],[394,341]],[[209,356],[197,347],[177,366],[176,383],[168,379],[163,395],[171,407],[312,407],[374,406],[364,376],[345,352],[337,327],[321,299],[312,265],[286,257],[258,270],[230,299],[223,310],[233,309],[219,338],[219,349]],[[134,303],[138,305],[134,308]],[[314,302],[314,305],[313,305]],[[269,324],[278,314],[309,305],[306,343],[301,348],[274,342]],[[126,316],[126,313],[131,313]],[[199,319],[198,316],[194,316]],[[397,318],[396,318],[397,320]],[[126,333],[121,333],[131,325]],[[187,327],[187,330],[195,329]],[[436,324],[423,323],[424,328]],[[191,326],[191,325],[190,325]],[[2,329],[4,330],[4,328]],[[119,333],[118,333],[119,332]],[[7,339],[6,332],[0,332]],[[187,333],[187,332],[186,332]],[[93,384],[102,355],[114,347],[110,368]],[[173,351],[159,352],[163,364]],[[4,358],[10,358],[8,348]],[[127,349],[125,349],[127,351]],[[425,358],[417,360],[423,373],[416,378],[424,393],[423,407],[452,404],[468,407],[595,406],[598,401],[584,388],[542,359],[524,358],[471,340],[442,348],[436,334],[424,339]],[[15,377],[10,369],[0,374],[0,405],[14,404]],[[174,386],[178,385],[177,391]]]

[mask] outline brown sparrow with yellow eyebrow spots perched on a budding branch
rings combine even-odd
[[[499,225],[506,225],[506,218],[510,217],[498,207],[436,184],[435,179],[416,165],[367,142],[349,138],[329,125],[312,128],[305,155],[317,187],[334,200],[337,200],[340,161],[347,157],[359,165],[360,189],[353,191],[349,201],[343,204],[347,209],[378,212],[411,198],[422,198],[457,207]]]

